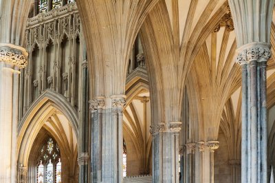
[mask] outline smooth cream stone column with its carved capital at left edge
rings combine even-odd
[[[0,182],[17,182],[18,74],[27,56],[23,47],[0,43]]]

